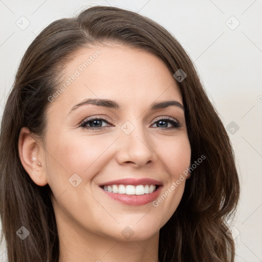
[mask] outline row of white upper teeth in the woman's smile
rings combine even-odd
[[[107,185],[104,190],[119,194],[150,194],[156,190],[156,185]]]

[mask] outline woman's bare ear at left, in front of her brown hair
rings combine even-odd
[[[18,139],[19,158],[31,179],[38,186],[45,186],[47,181],[45,156],[40,141],[30,132],[28,127],[20,130]]]

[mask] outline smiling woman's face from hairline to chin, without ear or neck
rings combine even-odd
[[[58,229],[122,241],[158,234],[180,203],[186,180],[176,181],[190,165],[172,74],[152,54],[112,45],[79,51],[61,86],[49,98],[43,150]],[[164,101],[175,102],[157,106]]]

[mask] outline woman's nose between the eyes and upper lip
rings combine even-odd
[[[120,130],[116,159],[120,165],[141,167],[154,161],[155,154],[151,149],[150,137],[146,135],[142,124],[136,124],[134,127],[128,135],[123,131],[124,129]]]

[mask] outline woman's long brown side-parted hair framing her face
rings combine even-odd
[[[239,198],[239,181],[229,137],[209,101],[193,63],[180,43],[162,26],[137,13],[96,6],[74,18],[54,21],[34,39],[20,62],[1,125],[0,182],[2,238],[9,262],[59,259],[59,239],[49,185],[38,186],[18,155],[22,127],[44,138],[48,97],[59,75],[80,48],[108,41],[143,49],[160,58],[177,81],[185,106],[191,161],[206,159],[191,172],[182,200],[160,229],[161,262],[234,261],[235,247],[227,220]],[[21,241],[16,231],[30,234]]]

